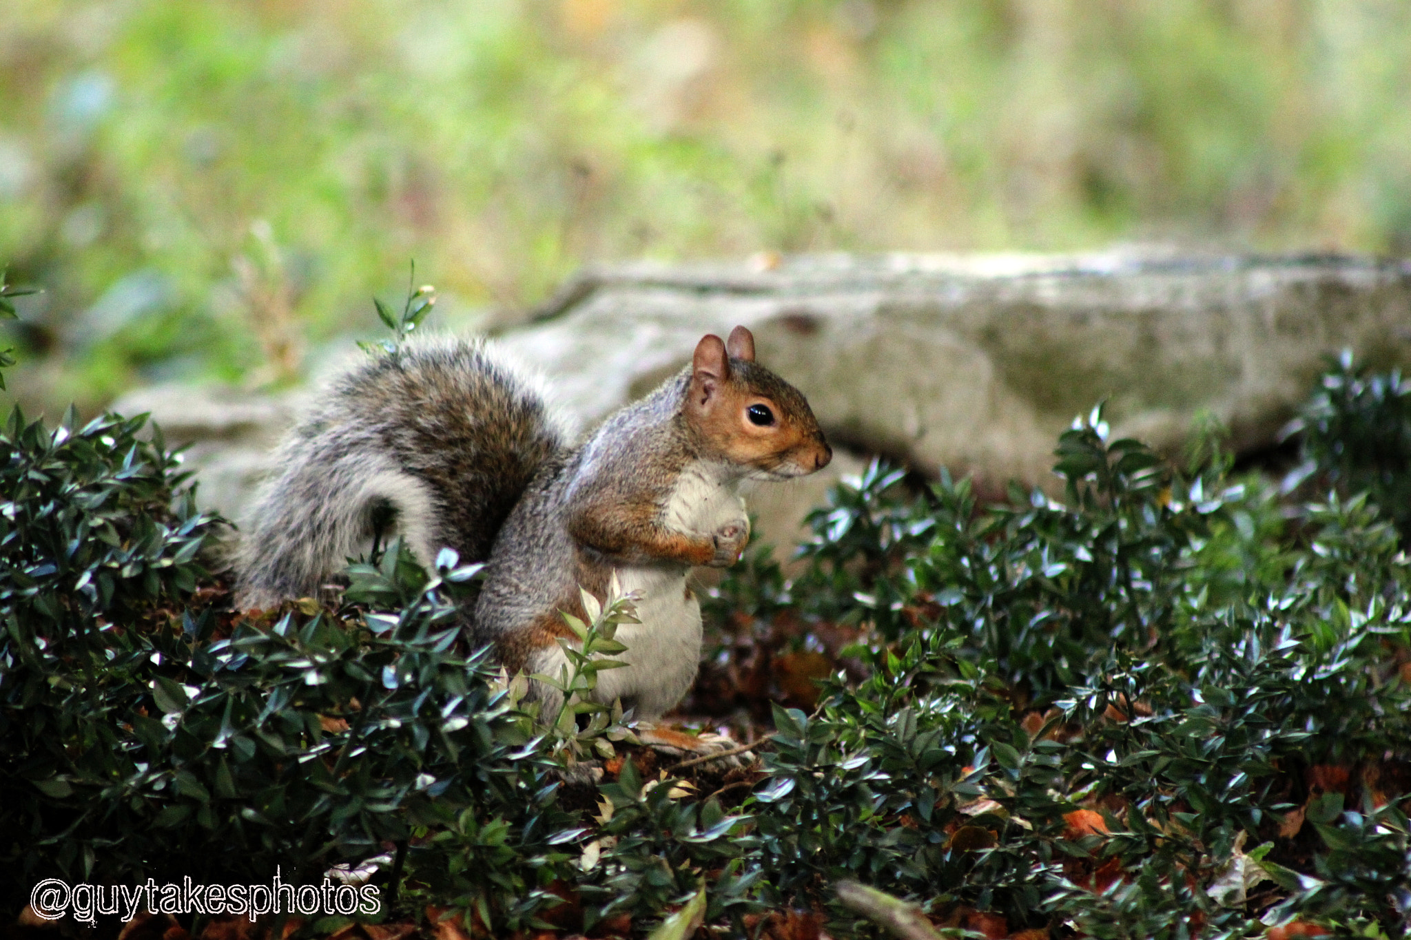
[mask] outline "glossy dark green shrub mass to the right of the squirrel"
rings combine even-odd
[[[840,674],[811,719],[777,715],[746,803],[763,896],[816,905],[848,877],[1010,927],[1242,936],[1307,910],[1400,936],[1401,791],[1379,795],[1380,830],[1369,803],[1278,836],[1324,806],[1318,768],[1371,799],[1356,775],[1411,758],[1411,583],[1391,527],[1333,495],[1291,533],[1267,483],[1225,479],[1223,461],[1184,478],[1109,444],[1099,414],[1058,457],[1064,503],[978,507],[948,478],[909,500],[873,468],[814,514],[809,572],[745,568],[753,583],[722,588],[755,616],[787,595],[820,626],[876,624],[849,651],[869,678]],[[1082,808],[1106,836],[1065,836]],[[1246,844],[1274,882],[1257,903],[1215,901]],[[1379,861],[1353,865],[1353,846]]]

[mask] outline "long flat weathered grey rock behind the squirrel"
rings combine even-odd
[[[1099,400],[1113,435],[1177,451],[1209,412],[1247,452],[1276,441],[1325,355],[1411,365],[1411,265],[1130,252],[635,264],[586,272],[501,341],[588,427],[735,324],[834,443],[1048,485],[1055,437]],[[195,441],[203,502],[238,517],[298,397],[150,389],[114,407]],[[793,489],[761,486],[762,531],[792,541],[803,510],[861,465],[840,452]]]

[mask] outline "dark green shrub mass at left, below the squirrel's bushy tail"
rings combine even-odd
[[[361,621],[317,609],[231,621],[192,595],[217,520],[193,510],[141,426],[48,431],[16,413],[0,437],[7,909],[44,877],[246,884],[282,867],[317,882],[467,817],[498,826],[511,857],[464,903],[511,926],[556,903],[538,872],[553,879],[553,846],[577,830],[495,671],[456,650],[446,592],[473,572],[415,569],[399,613]],[[402,552],[385,561],[354,588],[405,578]],[[416,847],[405,871],[442,872],[449,851]]]

